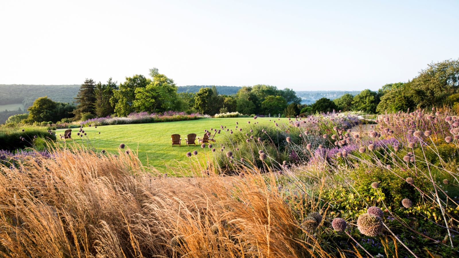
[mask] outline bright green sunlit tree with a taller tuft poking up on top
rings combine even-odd
[[[175,111],[179,106],[177,86],[173,79],[158,73],[156,68],[150,69],[153,81],[146,87],[136,88],[134,108],[137,112]]]

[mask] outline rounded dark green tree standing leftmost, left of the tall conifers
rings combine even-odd
[[[47,96],[38,98],[32,106],[28,107],[28,123],[33,122],[57,122],[54,112],[56,111],[57,103],[50,100]]]

